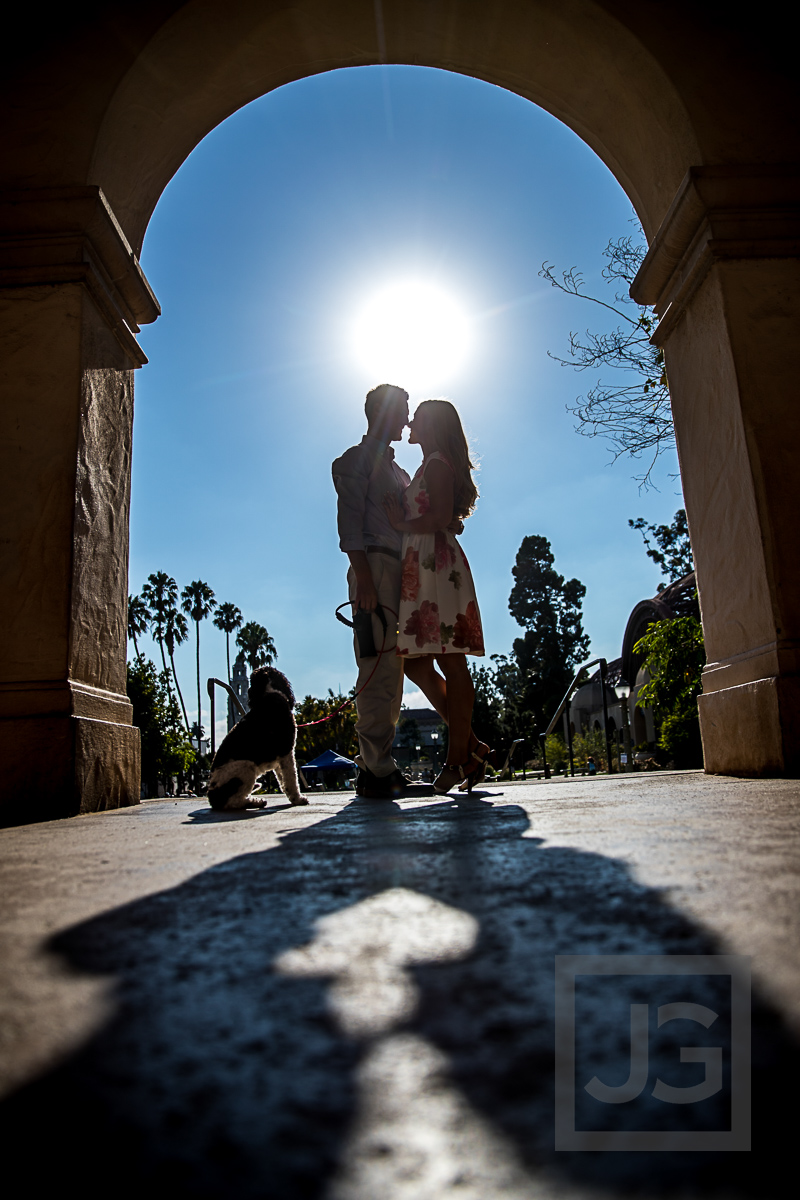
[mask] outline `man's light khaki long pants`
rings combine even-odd
[[[357,688],[366,688],[355,702],[359,719],[359,754],[356,763],[383,779],[397,770],[392,757],[395,728],[403,703],[403,660],[395,650],[397,647],[397,610],[399,608],[401,563],[390,554],[369,554],[369,568],[378,592],[378,601],[386,617],[386,638],[384,626],[378,617],[372,618],[372,636],[375,650],[384,653],[380,658],[362,659],[359,656],[359,641],[353,640],[355,661],[359,667]],[[348,571],[350,600],[355,601],[355,572]],[[353,611],[355,616],[355,610]],[[369,676],[374,671],[372,679]],[[369,679],[369,683],[367,683]]]

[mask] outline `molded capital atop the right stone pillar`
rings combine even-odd
[[[662,346],[709,268],[721,260],[800,254],[800,167],[691,167],[631,286],[652,305]]]

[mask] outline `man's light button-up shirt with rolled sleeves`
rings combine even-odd
[[[365,433],[357,446],[336,460],[332,470],[341,548],[347,553],[385,546],[399,552],[403,534],[390,526],[384,496],[404,492],[410,479],[395,462],[392,448]]]

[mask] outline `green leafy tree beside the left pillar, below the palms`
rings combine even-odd
[[[184,775],[194,762],[194,750],[181,725],[175,697],[169,690],[169,672],[138,654],[127,668],[127,694],[133,706],[133,724],[142,737],[142,779],[150,794],[158,780]]]

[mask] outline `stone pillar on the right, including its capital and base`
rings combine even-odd
[[[705,636],[705,769],[800,769],[795,167],[692,168],[631,294],[664,348]]]

